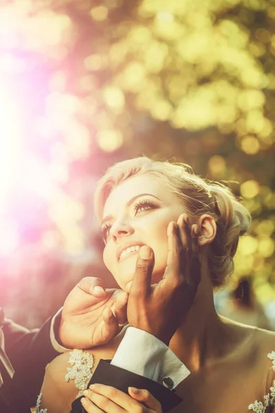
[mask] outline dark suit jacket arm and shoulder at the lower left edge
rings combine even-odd
[[[5,341],[5,351],[0,348],[1,413],[30,413],[30,407],[36,404],[45,366],[58,356],[50,341],[50,323],[51,319],[40,330],[30,331],[0,317],[0,334]],[[9,362],[14,369],[12,379]]]

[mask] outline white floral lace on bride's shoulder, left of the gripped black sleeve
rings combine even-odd
[[[94,357],[88,352],[83,352],[83,350],[73,350],[69,354],[71,357],[68,363],[72,368],[67,368],[65,380],[67,382],[74,380],[76,388],[79,390],[76,396],[76,399],[78,399],[78,397],[83,395],[83,390],[87,389],[91,376],[93,375],[91,369],[94,366]]]

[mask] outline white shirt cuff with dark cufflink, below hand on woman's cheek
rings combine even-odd
[[[135,327],[126,330],[111,364],[159,383],[170,377],[173,389],[190,374],[166,344]]]

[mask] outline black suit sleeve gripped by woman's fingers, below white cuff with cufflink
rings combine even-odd
[[[98,363],[98,367],[96,368],[93,377],[91,377],[89,385],[93,383],[111,385],[118,390],[122,390],[122,392],[126,394],[128,394],[129,386],[146,389],[153,394],[159,403],[161,403],[162,411],[164,413],[168,412],[182,401],[173,390],[169,390],[164,387],[164,385],[140,376],[139,374],[124,370],[123,368],[113,366],[104,360],[100,360]],[[80,399],[81,398],[78,398],[72,403],[72,413],[85,412],[80,403]]]

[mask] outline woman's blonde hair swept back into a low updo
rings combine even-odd
[[[208,262],[212,285],[222,286],[234,271],[233,257],[251,223],[251,215],[224,184],[196,176],[186,164],[160,162],[139,157],[118,162],[110,167],[98,182],[95,192],[95,212],[102,220],[104,204],[115,187],[131,176],[157,176],[173,191],[188,209],[191,220],[207,213],[217,224],[217,235],[209,246]]]

